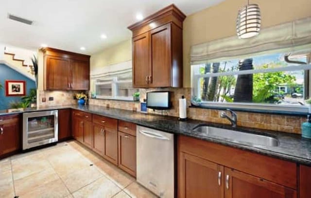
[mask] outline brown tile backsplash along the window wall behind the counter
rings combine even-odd
[[[147,91],[154,90],[170,90],[172,91],[172,103],[173,108],[170,110],[152,110],[148,109],[148,113],[163,114],[178,117],[179,116],[179,101],[182,95],[187,99],[187,107],[190,106],[191,89],[190,88],[167,88],[167,89],[140,89],[140,101],[146,98]],[[116,101],[116,100],[101,100],[90,99],[90,105],[106,106],[110,108],[122,108],[128,110],[140,110],[140,105],[137,102]],[[222,110],[205,109],[205,108],[187,108],[187,117],[190,119],[230,124],[227,119],[221,118],[220,113]],[[304,116],[286,116],[276,114],[264,114],[264,113],[251,113],[240,112],[238,114],[238,126],[260,128],[267,130],[277,130],[289,133],[301,133],[301,124],[305,122]]]

